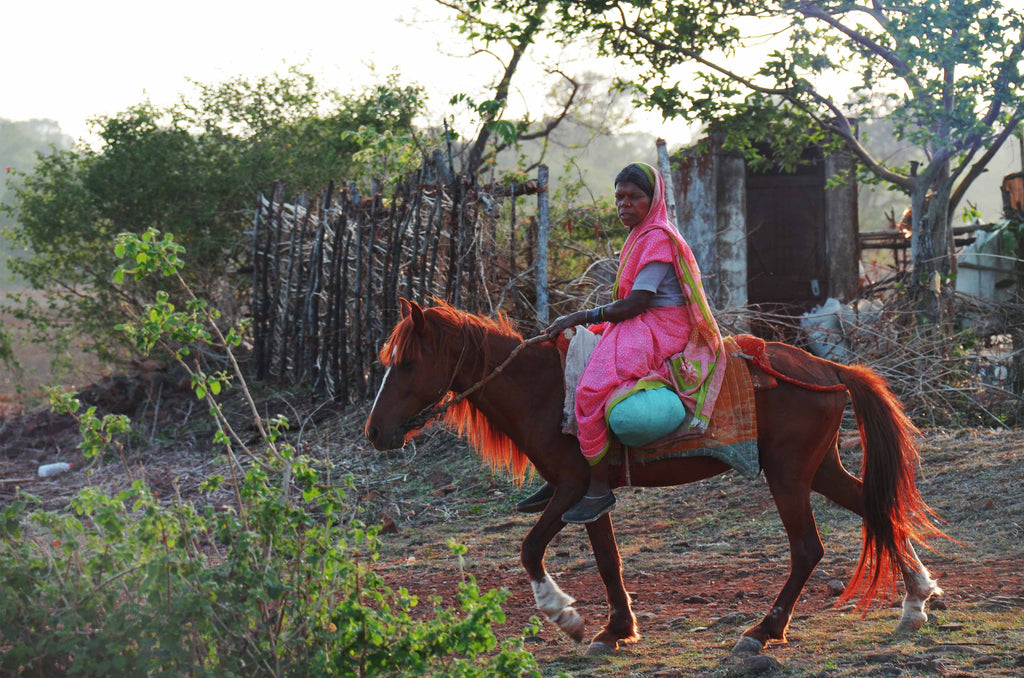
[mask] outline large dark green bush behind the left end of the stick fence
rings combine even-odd
[[[124,349],[110,319],[137,310],[156,288],[111,280],[117,234],[173,236],[190,252],[182,279],[230,316],[260,187],[281,180],[318,190],[342,178],[369,186],[404,172],[415,155],[422,90],[394,78],[351,95],[324,91],[297,70],[196,90],[173,107],[140,103],[98,119],[98,149],[62,150],[17,173],[4,210],[8,236],[29,255],[11,265],[47,292],[44,307],[20,309],[45,340],[66,330],[89,337],[100,357]],[[173,294],[169,302],[184,305]]]

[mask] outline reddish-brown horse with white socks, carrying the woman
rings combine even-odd
[[[402,299],[401,315],[381,349],[387,373],[366,424],[367,437],[378,450],[403,446],[417,433],[425,408],[478,386],[523,343],[507,319],[471,315],[443,303],[422,309]],[[583,620],[571,606],[573,599],[545,571],[544,553],[565,526],[560,516],[587,489],[587,465],[577,439],[561,432],[564,385],[557,349],[546,342],[519,351],[484,386],[447,409],[443,419],[493,465],[521,478],[532,463],[555,486],[554,497],[522,543],[521,558],[538,607],[579,642]],[[809,390],[784,379],[756,393],[760,463],[790,539],[790,577],[771,609],[743,632],[733,652],[757,653],[770,640],[785,640],[794,605],[824,553],[811,511],[812,490],[863,518],[863,549],[847,594],[862,592],[860,604],[866,606],[881,592],[894,590],[899,571],[906,585],[899,629],[919,629],[928,619],[925,601],[941,591],[911,540],[927,545],[929,538],[943,535],[914,484],[916,428],[870,369],[830,363],[781,343],[769,343],[767,353],[781,375],[820,387],[846,387],[860,428],[863,480],[848,473],[839,457],[846,393]],[[630,470],[634,485],[667,486],[708,478],[729,467],[710,457],[691,457],[637,464]],[[611,519],[604,515],[586,527],[611,608],[588,648],[589,654],[599,654],[640,636],[623,584]]]

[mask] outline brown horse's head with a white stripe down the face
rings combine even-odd
[[[450,390],[453,375],[444,343],[423,309],[402,299],[401,320],[380,352],[387,372],[364,429],[378,450],[402,447],[418,427],[410,420]]]

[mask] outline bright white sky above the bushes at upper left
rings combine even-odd
[[[493,56],[462,56],[468,52],[465,40],[446,18],[450,11],[432,0],[4,0],[4,5],[0,118],[56,120],[75,139],[88,139],[90,118],[146,99],[174,102],[189,91],[186,79],[218,83],[300,66],[322,86],[347,92],[397,70],[402,84],[426,88],[433,122],[439,122],[452,95],[478,95],[500,74]],[[588,66],[593,59],[581,71]],[[523,71],[530,68],[536,76]],[[520,69],[520,83],[543,79],[536,63]],[[529,98],[536,108],[545,93],[520,93],[518,105]],[[687,134],[679,125],[659,129],[654,114],[638,115],[653,134]]]

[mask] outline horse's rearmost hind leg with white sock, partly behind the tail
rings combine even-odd
[[[863,517],[863,483],[843,467],[838,448],[833,447],[828,451],[814,475],[812,489],[843,508]],[[903,576],[903,584],[906,587],[906,595],[903,597],[903,613],[900,617],[897,633],[913,632],[924,626],[925,622],[928,621],[925,602],[933,595],[942,595],[942,589],[921,562],[912,544],[907,543],[906,553],[908,556],[906,561],[899,565],[900,574]]]

